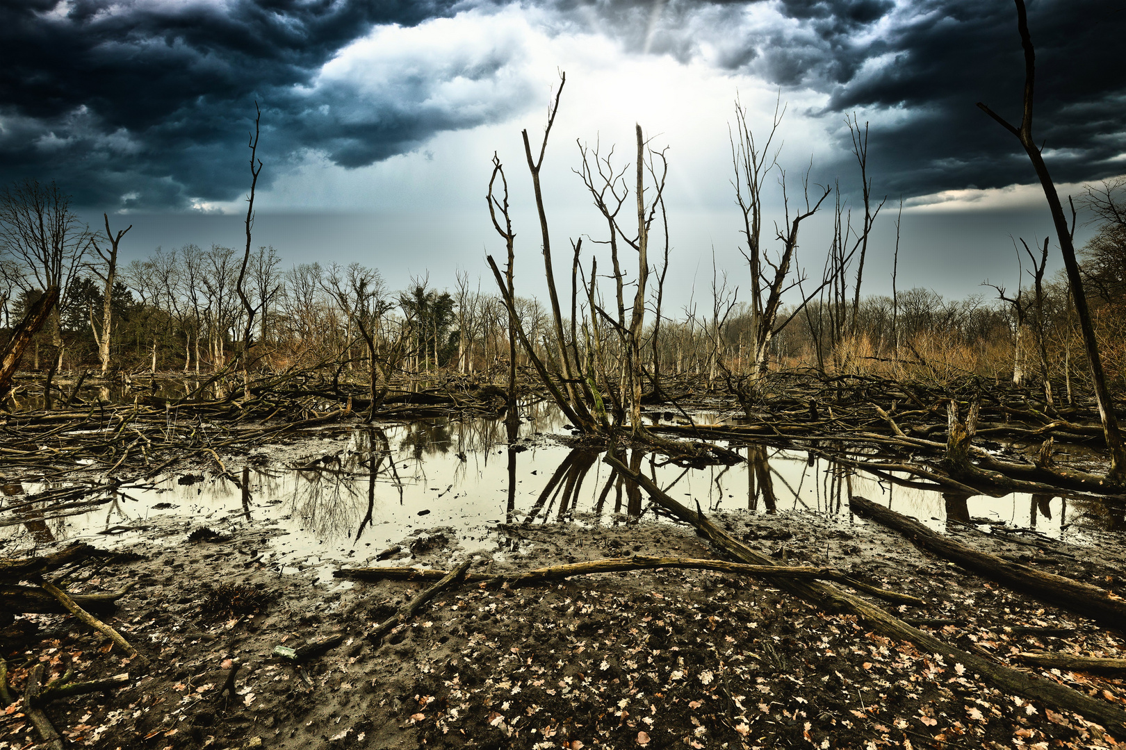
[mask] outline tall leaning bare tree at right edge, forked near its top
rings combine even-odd
[[[1044,197],[1048,201],[1052,211],[1052,223],[1055,225],[1056,238],[1060,250],[1063,253],[1063,264],[1067,272],[1067,281],[1071,284],[1072,298],[1075,302],[1075,314],[1079,317],[1079,327],[1083,334],[1083,347],[1087,350],[1087,360],[1091,367],[1091,382],[1094,387],[1094,401],[1099,408],[1099,417],[1102,421],[1102,433],[1110,453],[1110,470],[1107,479],[1123,485],[1126,484],[1126,443],[1123,442],[1121,432],[1118,428],[1118,418],[1115,415],[1114,399],[1107,388],[1107,379],[1102,371],[1102,358],[1099,354],[1099,343],[1094,335],[1094,326],[1091,323],[1091,311],[1087,305],[1087,296],[1083,291],[1083,278],[1079,270],[1079,262],[1075,260],[1075,246],[1073,244],[1074,215],[1072,226],[1067,226],[1067,218],[1063,213],[1063,204],[1056,192],[1055,183],[1048,173],[1048,168],[1044,163],[1044,155],[1039,146],[1033,139],[1033,94],[1036,81],[1036,51],[1033,47],[1033,37],[1028,31],[1028,11],[1025,9],[1025,0],[1015,0],[1017,4],[1017,30],[1020,34],[1020,44],[1025,51],[1025,92],[1024,108],[1020,125],[1013,126],[1003,117],[990,109],[985,103],[977,102],[977,106],[1001,127],[1011,133],[1024,146],[1028,154],[1036,177],[1039,178],[1044,188]],[[1074,209],[1072,209],[1074,211]]]

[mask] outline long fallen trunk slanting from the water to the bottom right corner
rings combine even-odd
[[[623,477],[637,482],[649,494],[650,498],[674,515],[695,526],[706,539],[726,551],[732,557],[751,564],[772,564],[774,561],[750,549],[726,531],[714,524],[703,513],[691,510],[669,497],[660,487],[642,473],[635,473],[614,454],[607,454],[606,462],[622,472]],[[1008,667],[993,659],[963,651],[948,644],[939,638],[913,627],[899,617],[843,591],[832,584],[820,581],[803,581],[787,578],[776,578],[776,586],[829,611],[856,615],[866,622],[874,631],[897,641],[910,641],[917,649],[938,653],[951,663],[960,663],[971,672],[976,672],[984,681],[992,683],[1002,690],[1040,701],[1056,710],[1071,711],[1081,714],[1089,721],[1096,721],[1112,733],[1123,737],[1126,733],[1126,711],[1120,707],[1074,690],[1057,683],[1038,679],[1025,671]]]

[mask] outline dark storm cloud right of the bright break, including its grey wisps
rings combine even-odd
[[[787,91],[829,96],[830,137],[850,148],[843,116],[873,121],[879,189],[918,196],[1035,181],[1016,139],[975,102],[1019,119],[1024,56],[1009,0],[599,0],[563,3],[606,19],[635,51],[705,57]],[[660,9],[654,21],[652,11]],[[1034,133],[1057,181],[1126,170],[1126,9],[1105,0],[1034,0]],[[823,165],[850,174],[848,162]]]

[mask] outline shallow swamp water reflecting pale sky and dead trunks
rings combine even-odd
[[[111,501],[81,515],[52,518],[51,510],[46,517],[25,510],[26,521],[0,528],[0,539],[18,545],[79,539],[100,546],[140,540],[177,545],[200,526],[218,533],[261,531],[260,544],[241,550],[248,560],[261,554],[282,572],[313,568],[327,579],[339,563],[372,563],[404,539],[428,543],[429,533],[456,540],[467,551],[495,553],[498,548],[519,551],[519,535],[510,525],[616,525],[638,517],[667,522],[640,491],[613,478],[600,452],[555,442],[551,435],[563,432],[565,422],[554,409],[539,405],[529,410],[530,418],[512,439],[502,422],[482,418],[332,432],[294,446],[289,459],[251,455],[245,466],[230,467],[233,475],[177,475],[125,487]],[[799,451],[761,445],[734,450],[749,461],[685,469],[640,451],[626,451],[624,460],[672,497],[690,506],[698,501],[711,512],[803,512],[863,524],[848,512],[848,497],[855,494],[890,504],[938,531],[948,521],[1003,522],[1080,544],[1083,524],[1091,525],[1098,515],[1060,497],[942,496],[891,486]],[[5,491],[19,489],[46,488]],[[9,504],[18,499],[6,498]]]

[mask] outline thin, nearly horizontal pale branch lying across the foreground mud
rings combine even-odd
[[[694,568],[699,570],[716,570],[736,576],[835,580],[899,604],[914,604],[919,606],[923,604],[923,600],[918,597],[900,594],[899,591],[890,591],[854,580],[835,568],[815,568],[812,566],[781,568],[777,566],[744,564],[727,562],[725,560],[701,560],[696,558],[653,558],[644,555],[607,558],[604,560],[548,566],[546,568],[536,568],[535,570],[511,575],[466,573],[465,580],[467,582],[507,584],[509,586],[536,586],[570,578],[571,576],[589,576],[592,573],[623,572],[627,570],[652,570],[654,568]],[[372,581],[437,580],[449,573],[445,570],[422,570],[420,568],[350,568],[337,570],[332,575],[337,578],[355,578]]]

